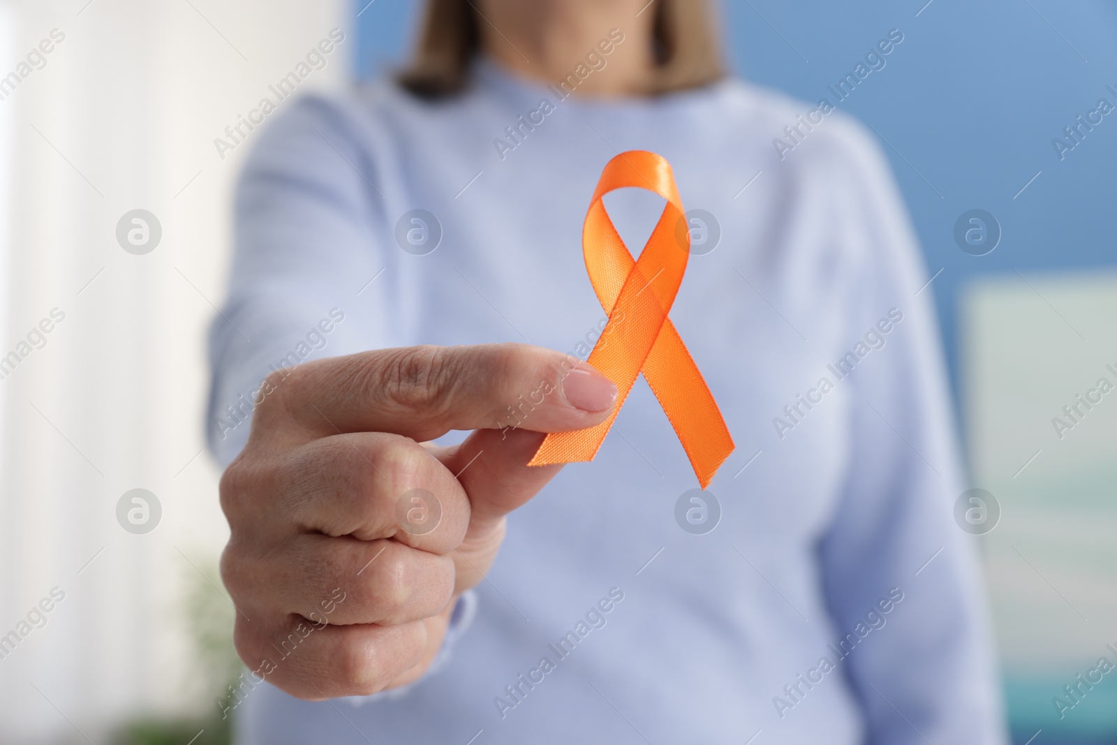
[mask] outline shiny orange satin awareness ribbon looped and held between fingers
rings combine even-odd
[[[601,201],[626,187],[647,189],[667,200],[638,260]],[[671,165],[661,155],[630,151],[605,165],[585,216],[582,250],[593,290],[609,314],[588,362],[617,384],[617,405],[596,427],[547,434],[529,466],[592,460],[640,373],[675,428],[703,489],[733,452],[714,395],[667,317],[690,256],[685,220]]]

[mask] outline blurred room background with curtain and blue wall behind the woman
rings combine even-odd
[[[252,136],[214,139],[332,29],[303,90],[390,69],[418,4],[0,0],[0,742],[227,742],[204,334]],[[804,112],[903,34],[838,106],[904,191],[972,485],[999,507],[973,539],[1014,741],[1117,743],[1117,675],[1053,701],[1117,661],[1117,3],[722,16],[733,68]]]

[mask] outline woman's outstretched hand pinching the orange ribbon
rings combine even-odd
[[[419,678],[454,601],[491,565],[505,515],[561,468],[526,466],[540,432],[592,427],[617,397],[584,363],[522,344],[321,360],[262,390],[221,478],[221,576],[240,658],[305,699]],[[477,431],[421,445],[454,429]]]

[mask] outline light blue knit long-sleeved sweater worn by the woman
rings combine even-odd
[[[584,356],[604,312],[582,219],[637,149],[706,213],[670,317],[737,450],[716,506],[680,502],[696,479],[638,380],[596,459],[509,516],[436,670],[366,701],[259,685],[240,742],[1003,743],[930,292],[873,142],[739,80],[604,103],[475,73],[437,104],[386,80],[288,103],[251,135],[211,337],[218,457],[270,366],[413,344]],[[661,202],[607,207],[636,254]]]

